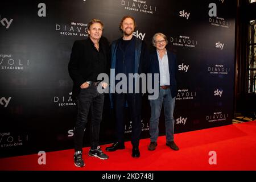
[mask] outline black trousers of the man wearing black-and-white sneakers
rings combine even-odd
[[[90,123],[90,145],[92,150],[99,146],[100,123],[104,105],[104,93],[97,91],[97,86],[90,85],[81,89],[77,97],[78,113],[74,131],[75,151],[82,151],[84,131],[88,122],[88,113],[91,109],[92,121]]]

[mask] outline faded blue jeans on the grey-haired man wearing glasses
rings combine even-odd
[[[150,140],[156,142],[158,139],[159,117],[161,114],[162,105],[164,105],[164,117],[166,121],[166,141],[174,140],[174,106],[175,97],[172,98],[171,90],[159,89],[159,97],[156,100],[150,100],[151,117],[150,117]]]

